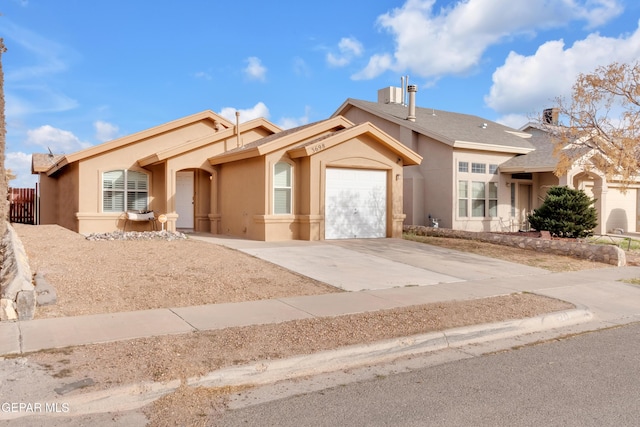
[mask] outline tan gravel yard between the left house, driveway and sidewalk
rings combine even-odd
[[[33,273],[43,274],[58,295],[57,304],[38,307],[36,318],[341,292],[197,240],[88,240],[57,225],[14,228]]]

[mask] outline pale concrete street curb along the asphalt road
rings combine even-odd
[[[469,344],[513,338],[533,332],[572,326],[592,319],[593,313],[587,309],[565,310],[526,319],[468,326],[443,332],[354,345],[288,359],[262,360],[250,365],[219,369],[202,377],[189,378],[186,385],[213,388],[264,385],[389,362],[401,357],[447,348],[459,348]],[[68,404],[70,412],[49,415],[69,417],[135,410],[174,392],[181,384],[180,380],[166,383],[146,382],[76,396],[65,396],[64,402]],[[34,414],[0,412],[0,420],[16,419],[28,415]]]

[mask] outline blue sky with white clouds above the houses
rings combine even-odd
[[[273,4],[273,5],[271,5]],[[418,85],[520,127],[578,73],[640,58],[637,0],[2,0],[5,166],[203,110],[290,128]]]

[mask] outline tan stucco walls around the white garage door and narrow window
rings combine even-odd
[[[402,236],[403,171],[397,154],[366,135],[295,159],[288,148],[220,165],[220,233],[268,241],[323,240],[326,169],[344,167],[387,171],[387,236]],[[293,165],[291,215],[273,214],[273,168],[280,161]]]

